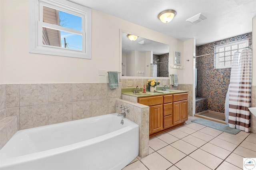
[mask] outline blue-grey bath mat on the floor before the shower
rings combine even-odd
[[[214,122],[214,121],[210,121],[210,120],[202,119],[202,118],[194,119],[191,122],[194,122],[194,123],[197,123],[200,125],[204,125],[206,127],[214,128],[214,129],[220,130],[222,132],[227,132],[230,134],[237,134],[238,132],[241,131],[240,129],[237,129],[237,128],[230,128],[228,125],[225,125],[223,123],[218,123],[218,122]]]

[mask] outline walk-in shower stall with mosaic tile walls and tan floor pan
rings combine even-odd
[[[215,46],[243,39],[248,39],[248,45],[252,45],[252,33],[247,33],[196,46],[196,108],[194,116],[226,124],[224,107],[231,68],[216,69]]]

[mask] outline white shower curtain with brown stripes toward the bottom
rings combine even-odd
[[[240,57],[239,57],[240,55]],[[252,91],[252,49],[236,52],[232,61],[229,85],[228,125],[246,132],[250,131]]]

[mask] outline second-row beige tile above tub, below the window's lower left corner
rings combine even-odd
[[[20,129],[48,125],[48,105],[20,107]]]

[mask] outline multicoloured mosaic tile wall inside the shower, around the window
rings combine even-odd
[[[247,33],[197,46],[196,56],[214,53],[214,46],[216,45],[243,40],[246,38],[249,39],[249,45],[252,45],[252,33]],[[196,68],[198,68],[198,83],[196,88],[197,96],[206,97],[208,99],[208,110],[224,113],[231,68],[215,69],[214,54],[197,57]]]

